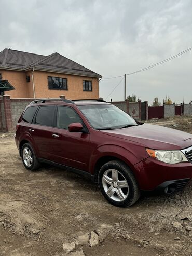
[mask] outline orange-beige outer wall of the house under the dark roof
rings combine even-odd
[[[33,98],[32,71],[0,70],[3,80],[8,80],[16,90],[8,91],[11,98]],[[30,76],[30,82],[26,82],[26,76]],[[68,90],[49,90],[48,76],[67,79]],[[35,98],[57,98],[65,95],[68,99],[98,99],[98,78],[60,74],[53,72],[34,71]],[[92,82],[92,91],[83,91],[83,80]]]

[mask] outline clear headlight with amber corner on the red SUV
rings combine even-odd
[[[146,149],[147,153],[167,164],[186,162],[188,159],[181,150],[152,150]]]

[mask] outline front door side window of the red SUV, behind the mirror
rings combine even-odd
[[[70,125],[71,123],[83,124],[79,115],[71,107],[58,106],[57,127],[67,130],[68,125]]]

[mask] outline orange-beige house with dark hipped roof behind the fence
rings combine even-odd
[[[0,52],[0,82],[7,80],[15,88],[8,92],[11,98],[97,99],[101,77],[57,52]]]

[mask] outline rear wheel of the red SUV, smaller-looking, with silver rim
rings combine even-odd
[[[26,154],[26,152],[28,152],[28,155]],[[32,161],[29,159],[29,156],[30,156],[30,159],[32,159]],[[33,147],[30,145],[30,143],[25,143],[22,146],[21,158],[22,158],[22,161],[23,161],[23,165],[28,170],[33,171],[33,170],[36,170],[40,167],[40,163],[37,160],[37,157],[35,155]],[[28,163],[29,163],[29,165],[28,165]]]

